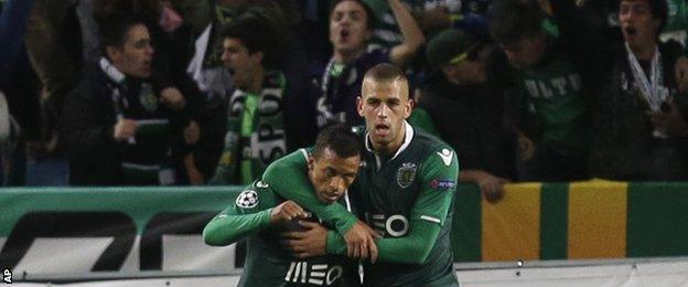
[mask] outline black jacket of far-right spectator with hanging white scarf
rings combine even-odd
[[[590,158],[592,177],[614,180],[688,180],[688,140],[653,136],[648,109],[634,87],[623,44],[613,66],[598,92],[594,107],[593,147]],[[660,44],[663,86],[679,104],[684,115],[686,95],[676,92],[674,64],[681,49],[677,43]]]

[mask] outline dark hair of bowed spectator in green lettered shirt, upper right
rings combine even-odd
[[[516,43],[545,32],[545,11],[537,1],[504,0],[492,9],[488,17],[492,38],[501,44]]]

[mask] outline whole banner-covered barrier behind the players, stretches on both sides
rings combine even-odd
[[[518,183],[497,204],[458,187],[456,262],[688,255],[688,183]],[[15,278],[237,272],[201,232],[239,187],[0,190],[0,268]],[[19,275],[19,276],[18,276]]]

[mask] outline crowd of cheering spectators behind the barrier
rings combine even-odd
[[[361,125],[385,62],[490,201],[510,181],[688,180],[685,0],[0,3],[8,185],[26,155],[66,157],[74,185],[247,184]]]

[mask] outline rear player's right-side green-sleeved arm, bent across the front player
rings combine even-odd
[[[376,241],[379,261],[420,264],[428,258],[445,224],[459,173],[455,153],[447,150],[451,153],[434,152],[423,163],[421,190],[410,213],[409,233],[404,237]],[[346,245],[338,234],[329,232],[326,249],[331,254],[344,254]]]

